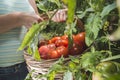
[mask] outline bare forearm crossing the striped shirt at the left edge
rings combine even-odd
[[[19,13],[0,15],[0,33],[21,26],[18,15]]]

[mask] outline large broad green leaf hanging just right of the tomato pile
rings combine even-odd
[[[85,25],[86,30],[86,44],[90,46],[98,37],[98,33],[102,29],[102,19],[99,13],[91,13]]]

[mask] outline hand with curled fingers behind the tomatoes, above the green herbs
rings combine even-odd
[[[52,17],[54,22],[64,22],[67,19],[67,9],[61,9],[56,12],[56,14]]]

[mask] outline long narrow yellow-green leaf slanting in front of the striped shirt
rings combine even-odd
[[[47,21],[43,21],[39,24],[33,24],[29,31],[26,33],[18,50],[23,50],[25,47],[30,45],[35,35],[42,31],[43,29],[45,29],[47,24],[48,24]]]

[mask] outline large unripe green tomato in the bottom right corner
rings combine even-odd
[[[96,69],[92,80],[118,80],[120,76],[120,64],[117,62],[102,62],[96,66]]]

